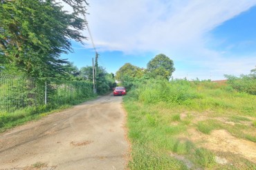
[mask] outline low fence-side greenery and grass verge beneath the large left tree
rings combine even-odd
[[[91,72],[78,72],[77,76],[69,76],[69,80],[57,81],[55,78],[31,81],[26,77],[0,74],[0,132],[108,93],[116,85],[113,74],[107,74],[101,67],[99,68],[97,94],[93,94],[92,80],[86,78],[91,75],[92,68]],[[27,83],[28,81],[30,83]],[[44,104],[45,82],[46,105]]]

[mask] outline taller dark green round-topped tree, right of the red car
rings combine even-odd
[[[151,78],[161,77],[169,80],[174,71],[173,61],[165,54],[158,54],[147,63],[147,75]]]

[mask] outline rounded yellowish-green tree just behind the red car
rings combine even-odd
[[[116,79],[118,81],[123,81],[125,78],[140,78],[144,75],[143,70],[140,67],[131,65],[130,63],[125,63],[116,72]]]

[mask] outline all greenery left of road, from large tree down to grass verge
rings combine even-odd
[[[64,10],[62,3],[72,10]],[[86,40],[82,30],[88,5],[86,0],[0,1],[0,131],[105,94],[116,85],[113,74],[95,60],[95,94],[93,67],[78,69],[62,58],[73,52],[72,41]]]

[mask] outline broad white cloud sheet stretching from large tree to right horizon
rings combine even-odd
[[[163,52],[174,62],[198,67],[176,69],[177,77],[242,74],[252,69],[255,56],[226,56],[208,49],[209,32],[256,5],[256,0],[88,0],[87,16],[99,50],[125,53]],[[84,34],[87,36],[87,30]],[[90,39],[89,39],[90,41]],[[86,41],[86,43],[89,43]],[[231,47],[230,47],[231,48]],[[227,49],[228,50],[228,49]],[[178,66],[179,67],[179,66]],[[207,73],[205,70],[208,70]],[[192,73],[191,73],[192,72]],[[174,75],[175,75],[174,74]],[[183,77],[184,77],[183,76]],[[194,76],[199,77],[199,76]]]

